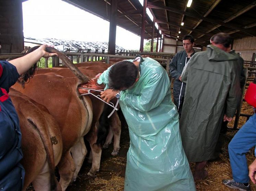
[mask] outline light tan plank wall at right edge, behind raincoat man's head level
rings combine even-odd
[[[242,39],[235,39],[232,49],[236,53],[241,53],[240,56],[244,60],[252,61],[253,53],[256,53],[256,37],[249,36]]]

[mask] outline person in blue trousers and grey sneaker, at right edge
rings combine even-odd
[[[255,108],[254,108],[255,111]],[[251,116],[243,127],[235,134],[229,143],[229,159],[233,179],[224,179],[222,182],[229,188],[240,191],[250,190],[249,172],[246,161],[246,152],[256,144],[256,114]],[[250,166],[253,171],[253,166]],[[256,168],[255,168],[256,170]],[[255,173],[255,172],[254,172]],[[251,173],[253,174],[253,172]],[[251,175],[252,176],[252,175]]]

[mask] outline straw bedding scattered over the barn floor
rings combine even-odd
[[[253,114],[253,109],[246,102],[242,105],[242,112],[245,114]],[[246,122],[246,117],[240,117],[239,128]],[[234,120],[232,120],[228,126],[233,127]],[[222,184],[222,179],[231,179],[232,172],[230,167],[229,155],[228,155],[228,143],[237,131],[228,130],[225,144],[218,161],[209,162],[207,165],[207,171],[209,176],[205,180],[197,180],[195,182],[197,191],[234,191]],[[124,187],[124,174],[126,165],[126,153],[129,149],[129,132],[127,127],[122,127],[121,133],[121,149],[119,156],[110,156],[112,146],[108,149],[104,149],[102,152],[102,160],[100,171],[95,177],[90,178],[86,175],[89,171],[90,164],[84,164],[79,176],[67,191],[122,191]],[[248,165],[251,164],[254,159],[254,148],[251,149],[246,155]],[[192,172],[194,171],[194,163],[191,163]],[[251,190],[256,191],[256,186],[250,182]],[[32,190],[31,188],[28,190]]]

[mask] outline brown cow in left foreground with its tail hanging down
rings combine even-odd
[[[24,189],[33,183],[35,190],[61,190],[54,173],[62,153],[59,126],[45,106],[10,88],[22,132],[21,161],[25,168]],[[56,186],[57,184],[57,186]]]

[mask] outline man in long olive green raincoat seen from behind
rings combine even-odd
[[[237,57],[225,52],[231,37],[216,35],[215,42],[196,53],[181,75],[187,84],[180,131],[188,161],[196,162],[194,179],[208,175],[204,168],[214,155],[221,123],[232,120],[241,94]]]

